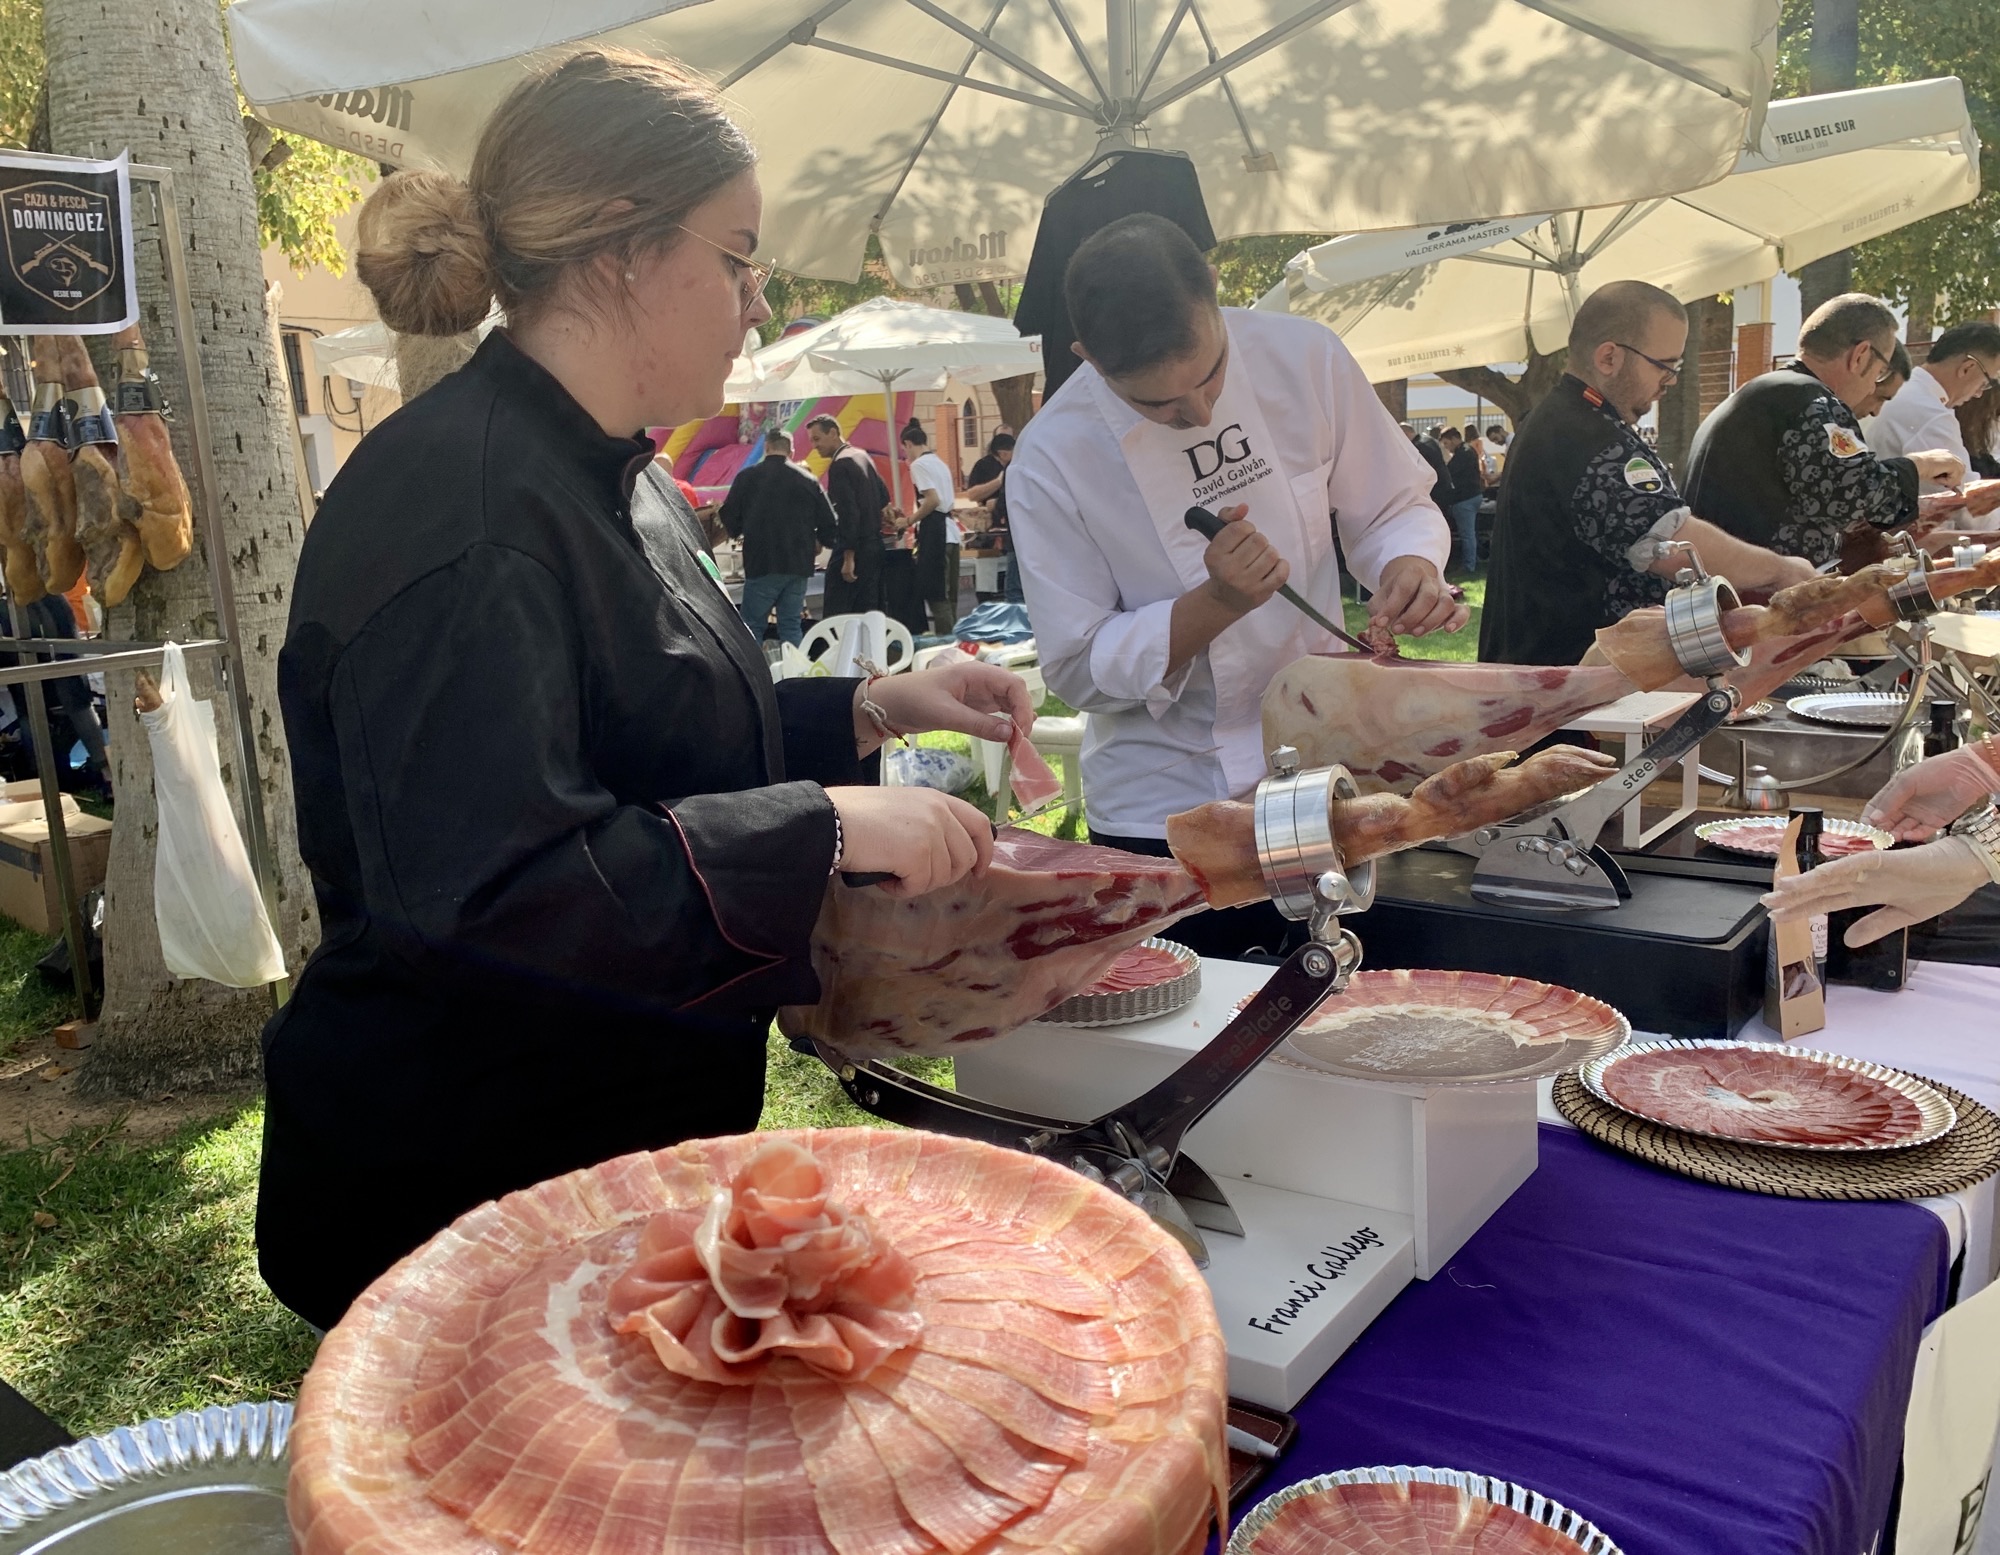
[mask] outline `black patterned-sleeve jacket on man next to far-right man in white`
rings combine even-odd
[[[1804,362],[1752,378],[1694,434],[1688,506],[1780,556],[1826,564],[1850,524],[1916,518],[1916,466],[1876,458],[1862,426]]]

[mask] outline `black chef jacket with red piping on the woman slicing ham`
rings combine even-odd
[[[332,1325],[472,1205],[756,1125],[818,997],[854,682],[774,688],[642,438],[494,332],[306,534],[278,692],[322,941],[264,1031],[258,1257]]]

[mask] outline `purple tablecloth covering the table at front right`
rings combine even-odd
[[[1430,1463],[1626,1555],[1858,1555],[1888,1515],[1946,1235],[1908,1203],[1706,1187],[1542,1127],[1542,1165],[1294,1411],[1262,1493]]]

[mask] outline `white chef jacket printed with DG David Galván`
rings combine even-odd
[[[1222,310],[1222,396],[1206,428],[1156,426],[1080,366],[1020,436],[1008,524],[1042,678],[1090,714],[1084,809],[1094,831],[1164,837],[1166,817],[1244,795],[1266,774],[1264,688],[1342,648],[1272,598],[1168,680],[1174,600],[1208,582],[1200,504],[1248,502],[1292,564],[1292,588],[1340,620],[1340,568],[1368,588],[1398,556],[1442,572],[1450,530],[1436,480],[1348,348],[1312,320]],[[1330,522],[1332,516],[1332,522]]]

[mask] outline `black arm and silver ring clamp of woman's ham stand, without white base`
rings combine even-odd
[[[818,1039],[810,1039],[812,1051],[864,1111],[1060,1161],[1136,1203],[1206,1267],[1202,1231],[1240,1237],[1244,1227],[1222,1187],[1180,1145],[1360,967],[1360,939],[1340,919],[1374,901],[1374,863],[1348,871],[1332,833],[1332,801],[1356,793],[1346,768],[1300,772],[1296,752],[1272,752],[1272,776],[1258,783],[1254,799],[1258,867],[1272,903],[1304,919],[1310,937],[1206,1047],[1144,1095],[1088,1123],[972,1101],[886,1063],[856,1063]]]

